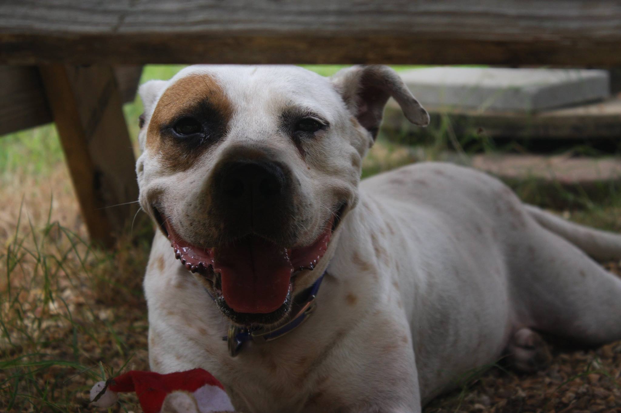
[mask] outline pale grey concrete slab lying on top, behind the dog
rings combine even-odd
[[[429,67],[401,72],[401,77],[432,111],[535,112],[610,95],[609,73],[594,69]]]

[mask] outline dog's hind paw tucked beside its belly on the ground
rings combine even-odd
[[[542,336],[530,328],[522,328],[515,332],[509,342],[507,360],[515,370],[534,373],[547,367],[552,356]]]

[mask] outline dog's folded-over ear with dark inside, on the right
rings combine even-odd
[[[378,135],[389,97],[399,103],[407,120],[419,126],[429,124],[427,111],[412,96],[397,72],[388,66],[353,66],[338,71],[331,80],[348,109],[373,139]]]

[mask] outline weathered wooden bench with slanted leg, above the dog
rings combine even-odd
[[[610,0],[5,0],[0,133],[55,121],[91,238],[112,245],[132,209],[101,207],[137,198],[117,65],[611,67],[620,45]]]

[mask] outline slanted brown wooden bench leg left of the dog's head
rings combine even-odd
[[[138,199],[134,151],[116,78],[107,66],[41,66],[71,180],[91,240],[112,246]]]

